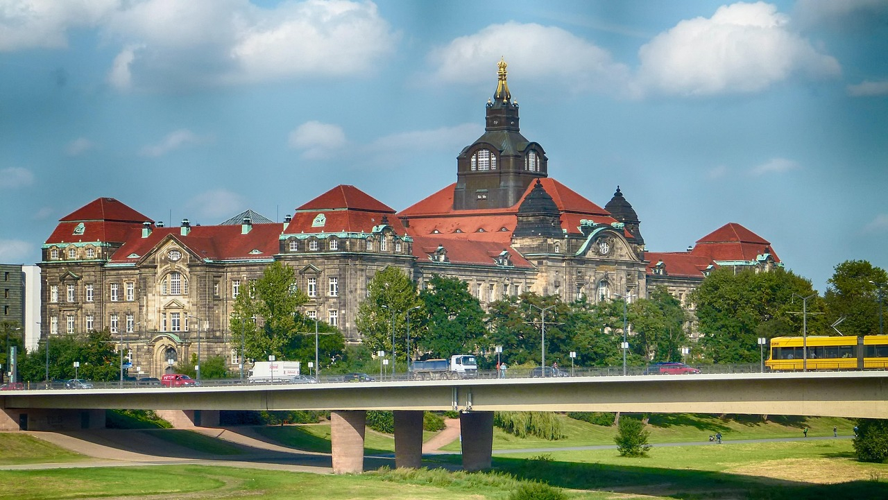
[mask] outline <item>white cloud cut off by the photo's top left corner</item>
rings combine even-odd
[[[67,47],[67,31],[91,27],[119,0],[6,0],[0,3],[0,52]]]

